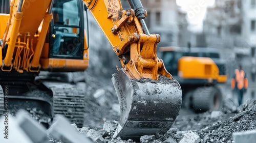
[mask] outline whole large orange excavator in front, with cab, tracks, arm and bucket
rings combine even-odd
[[[90,11],[122,65],[112,77],[121,109],[115,136],[167,132],[181,107],[181,87],[157,57],[160,36],[148,31],[141,2],[128,2],[131,9],[123,10],[119,0],[10,0],[10,13],[0,14],[0,114],[35,106],[82,126],[84,93],[54,75],[89,66],[84,14]]]

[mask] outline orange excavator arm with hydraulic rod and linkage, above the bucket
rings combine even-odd
[[[140,1],[129,0],[132,9],[122,9],[119,0],[83,1],[118,55],[122,68],[130,78],[158,80],[158,74],[172,79],[157,58],[160,36],[150,34],[144,18],[146,11]]]

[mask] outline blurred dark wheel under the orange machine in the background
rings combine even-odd
[[[223,105],[223,97],[217,87],[200,87],[193,93],[192,104],[196,112],[220,110]]]

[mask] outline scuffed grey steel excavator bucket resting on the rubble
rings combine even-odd
[[[164,134],[178,116],[182,92],[175,79],[131,79],[123,69],[113,74],[121,118],[114,137],[139,140],[143,135]],[[136,132],[134,132],[136,131]]]

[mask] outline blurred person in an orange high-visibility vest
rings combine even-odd
[[[242,66],[239,65],[239,69],[234,70],[234,76],[231,79],[231,89],[235,90],[238,94],[238,104],[242,104],[243,94],[248,88],[248,79]]]

